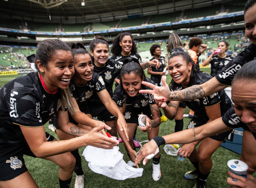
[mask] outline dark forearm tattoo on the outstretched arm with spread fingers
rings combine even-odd
[[[191,86],[184,90],[171,92],[169,100],[188,101],[204,97],[204,89],[200,85]]]

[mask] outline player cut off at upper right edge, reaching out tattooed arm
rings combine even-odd
[[[208,96],[214,92],[218,92],[220,90],[225,89],[226,87],[232,84],[232,80],[237,72],[249,61],[252,61],[256,57],[256,0],[248,0],[245,8],[244,8],[244,21],[245,21],[245,35],[252,44],[244,49],[241,53],[239,53],[232,61],[226,65],[222,69],[221,72],[218,73],[217,76],[205,82],[204,84],[192,86],[186,88],[184,90],[170,92],[168,91],[168,87],[157,87],[151,86],[153,90],[141,91],[150,94],[154,94],[154,99],[156,102],[162,102],[167,100],[195,100],[197,98],[202,98],[204,96]],[[244,161],[249,169],[247,172],[252,174],[256,171],[256,162],[254,159],[256,155],[252,145],[256,145],[256,141],[254,139],[246,139],[253,137],[252,133],[247,127],[244,127],[243,133],[243,142],[241,154],[241,161]]]

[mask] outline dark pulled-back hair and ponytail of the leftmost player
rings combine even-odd
[[[58,50],[70,51],[70,48],[66,43],[58,39],[47,39],[38,45],[34,58],[34,65],[38,72],[40,71],[37,67],[36,61],[39,60],[42,65],[48,69],[48,62],[52,59],[54,53]],[[65,111],[65,109],[68,108],[68,112],[71,115],[76,113],[76,108],[73,102],[73,98],[71,97],[70,89],[67,88],[63,90],[59,88],[59,92],[62,111]]]

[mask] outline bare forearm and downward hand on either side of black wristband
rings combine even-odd
[[[224,125],[224,123],[222,122],[221,118],[218,118],[200,127],[196,127],[194,129],[186,129],[183,131],[172,133],[170,135],[163,136],[163,138],[165,139],[165,142],[166,142],[165,144],[174,144],[174,143],[187,144],[194,141],[200,141],[207,137],[224,133],[232,129],[233,128],[226,127],[226,125]],[[155,153],[156,149],[157,149],[157,145],[154,140],[151,140],[150,142],[144,144],[140,153],[138,154],[135,165],[137,165],[142,159],[144,159],[151,153]],[[148,160],[144,159],[143,165],[145,165],[147,162]]]

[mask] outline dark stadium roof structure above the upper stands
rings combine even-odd
[[[211,6],[231,0],[4,0],[0,1],[1,14],[33,17],[82,17],[92,19],[122,19],[122,17],[159,12],[175,12],[198,6]],[[233,0],[234,2],[235,0]],[[236,1],[239,2],[239,1]],[[157,12],[157,13],[156,13]]]

